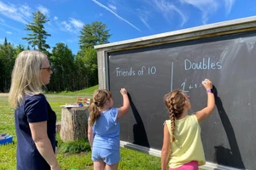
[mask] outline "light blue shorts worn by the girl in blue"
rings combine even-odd
[[[107,165],[113,165],[118,163],[121,159],[119,150],[108,150],[102,148],[92,148],[91,160],[100,161],[103,160]]]

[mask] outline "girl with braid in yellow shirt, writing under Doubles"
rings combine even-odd
[[[207,107],[189,115],[191,109],[189,96],[177,89],[165,95],[166,108],[170,120],[164,124],[164,140],[161,150],[161,169],[166,170],[198,170],[198,166],[206,163],[201,143],[200,123],[211,115],[215,100],[212,94],[212,82],[202,82],[207,89]]]

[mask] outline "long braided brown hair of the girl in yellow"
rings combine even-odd
[[[184,110],[186,97],[181,89],[173,90],[171,93],[166,94],[164,97],[166,108],[170,114],[172,139],[175,142],[175,120],[178,119]]]

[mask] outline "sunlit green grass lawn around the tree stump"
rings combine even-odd
[[[75,103],[77,96],[91,97],[98,86],[87,88],[79,92],[63,92],[60,94],[46,94],[46,97],[52,109],[56,112],[57,121],[61,121],[61,107],[66,103]],[[0,169],[15,170],[15,120],[14,110],[8,105],[8,97],[0,96],[0,133],[9,133],[14,136],[13,144],[0,145]],[[59,139],[59,138],[58,138]],[[88,143],[85,141],[84,144]],[[73,144],[74,145],[74,144]],[[58,150],[58,149],[57,149]],[[149,156],[142,152],[121,148],[122,159],[119,162],[119,170],[158,170],[160,169],[160,158]],[[62,170],[79,168],[79,170],[92,170],[93,162],[90,160],[91,152],[83,151],[80,153],[61,153],[58,151],[57,159],[60,162]]]

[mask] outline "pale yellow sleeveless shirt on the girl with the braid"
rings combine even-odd
[[[171,120],[166,120],[172,139]],[[206,158],[201,143],[201,127],[195,115],[175,121],[175,142],[171,143],[172,152],[169,167],[177,168],[190,161],[204,165]]]

